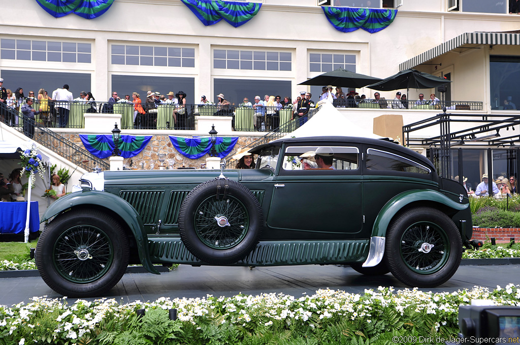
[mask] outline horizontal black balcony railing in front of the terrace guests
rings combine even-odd
[[[335,100],[337,108],[373,108],[405,110],[440,110],[446,106],[449,110],[478,111],[483,109],[483,102],[469,101],[415,101],[402,103],[398,100]],[[269,132],[277,130],[289,123],[293,109],[289,107],[253,107],[253,106],[219,106],[215,104],[147,104],[147,103],[115,103],[107,102],[43,102],[36,100],[33,108],[42,109],[43,113],[36,117],[42,127],[50,128],[84,128],[85,113],[121,114],[122,129],[160,129],[160,130],[194,130],[197,116],[232,116],[233,130]],[[60,124],[61,109],[67,109],[67,123]],[[137,110],[136,110],[137,109]],[[175,119],[174,119],[175,114]]]

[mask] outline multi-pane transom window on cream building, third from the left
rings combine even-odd
[[[213,68],[226,70],[292,71],[292,53],[214,49]]]

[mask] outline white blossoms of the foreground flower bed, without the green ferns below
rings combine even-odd
[[[76,300],[72,305],[61,299],[33,297],[32,302],[16,306],[0,306],[0,335],[9,334],[16,343],[34,343],[41,339],[44,329],[52,321],[54,331],[47,338],[63,343],[89,335],[95,337],[103,323],[114,322],[135,315],[136,310],[167,310],[176,308],[178,320],[201,326],[218,321],[220,325],[245,327],[274,327],[273,324],[300,323],[314,328],[326,319],[336,318],[371,323],[381,313],[397,315],[420,313],[432,320],[435,332],[441,327],[454,327],[459,305],[472,299],[487,299],[495,305],[520,306],[520,285],[508,284],[495,291],[475,286],[453,293],[432,293],[418,288],[394,291],[392,287],[366,289],[365,294],[320,289],[314,295],[294,297],[283,294],[206,298],[159,298],[153,302],[136,301],[120,304],[114,299],[94,302]],[[50,315],[50,316],[49,316]],[[55,315],[55,316],[52,316]],[[54,320],[54,321],[53,321]],[[40,324],[40,322],[46,325]],[[197,328],[199,329],[199,328]],[[445,330],[445,329],[444,329]],[[18,336],[18,337],[17,337]],[[52,339],[51,339],[52,338]]]

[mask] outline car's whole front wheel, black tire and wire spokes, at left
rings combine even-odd
[[[126,234],[95,210],[66,212],[43,231],[36,266],[45,283],[69,297],[95,297],[117,284],[128,266]]]

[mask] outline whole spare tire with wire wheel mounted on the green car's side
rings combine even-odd
[[[204,182],[180,206],[180,238],[208,264],[243,259],[258,243],[264,218],[260,203],[244,185],[224,178]]]

